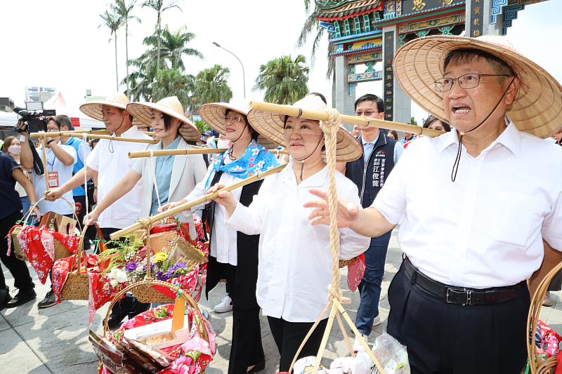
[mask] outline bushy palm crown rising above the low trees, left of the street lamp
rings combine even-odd
[[[143,44],[155,47],[149,50],[149,53],[154,55],[154,58],[157,58],[159,54],[159,58],[170,62],[171,69],[180,69],[183,71],[185,70],[185,65],[182,60],[183,55],[195,56],[203,59],[203,55],[200,51],[186,46],[193,39],[195,39],[195,34],[187,32],[186,27],[183,26],[175,32],[170,32],[167,28],[163,29],[160,38],[157,34],[147,36]],[[161,46],[158,47],[159,42]]]

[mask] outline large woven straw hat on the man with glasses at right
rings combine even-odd
[[[562,126],[562,87],[546,70],[518,53],[504,36],[426,36],[398,49],[394,74],[404,91],[426,112],[448,121],[443,94],[435,90],[434,82],[443,77],[448,53],[457,49],[485,51],[513,69],[520,87],[507,115],[520,131],[547,138]]]

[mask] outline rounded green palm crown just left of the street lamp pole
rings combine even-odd
[[[221,65],[203,69],[195,76],[193,100],[196,107],[207,102],[228,102],[233,98],[233,91],[228,86],[230,69]]]

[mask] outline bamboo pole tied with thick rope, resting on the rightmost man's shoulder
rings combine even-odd
[[[250,102],[251,110],[261,110],[262,112],[271,112],[277,114],[284,114],[286,116],[301,117],[304,119],[312,119],[314,121],[327,121],[327,112],[317,112],[313,110],[300,109],[298,107],[293,107],[292,105],[279,105],[271,104],[270,102]],[[407,125],[406,123],[384,121],[384,119],[374,119],[364,116],[348,116],[346,114],[340,114],[341,122],[349,123],[351,125],[357,125],[362,127],[377,127],[386,128],[387,130],[403,131],[405,133],[412,133],[414,135],[424,135],[431,138],[439,136],[445,131],[437,131],[432,128],[423,128],[421,126]]]

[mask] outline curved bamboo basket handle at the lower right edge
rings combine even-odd
[[[540,281],[535,294],[532,295],[529,314],[527,317],[527,353],[529,356],[529,368],[531,374],[552,374],[556,368],[556,357],[544,359],[537,352],[537,345],[535,344],[535,330],[537,322],[539,321],[540,310],[542,309],[542,300],[547,293],[550,281],[554,278],[556,273],[562,269],[562,262],[554,269],[552,269],[547,276]]]

